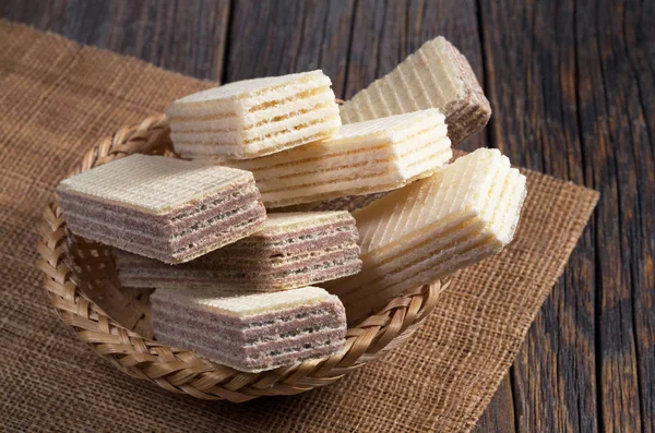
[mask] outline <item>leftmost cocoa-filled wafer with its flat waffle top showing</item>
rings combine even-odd
[[[57,188],[75,234],[166,263],[188,262],[258,231],[266,213],[248,171],[131,155]]]

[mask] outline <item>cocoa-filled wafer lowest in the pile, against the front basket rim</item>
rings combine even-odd
[[[151,304],[158,341],[245,372],[331,356],[345,342],[343,304],[318,287],[223,298],[158,289]]]

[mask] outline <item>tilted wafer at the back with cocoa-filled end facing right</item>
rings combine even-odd
[[[491,107],[466,58],[444,37],[424,44],[341,107],[344,124],[426,108],[445,115],[453,146],[483,129]]]

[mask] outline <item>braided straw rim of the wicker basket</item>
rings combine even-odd
[[[168,134],[164,115],[148,117],[136,127],[120,128],[91,148],[69,177],[127,155],[150,153],[162,143],[169,143]],[[200,399],[241,402],[332,384],[406,342],[450,285],[446,277],[393,299],[377,314],[349,327],[346,346],[337,354],[261,373],[243,373],[192,351],[145,338],[114,321],[87,298],[69,266],[72,257],[66,245],[68,233],[56,196],[44,211],[39,233],[37,266],[45,275],[44,288],[61,321],[120,371]]]

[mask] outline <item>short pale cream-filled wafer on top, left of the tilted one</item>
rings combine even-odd
[[[340,127],[330,79],[312,71],[200,92],[166,110],[176,152],[247,159],[331,136]]]

